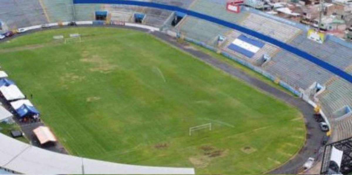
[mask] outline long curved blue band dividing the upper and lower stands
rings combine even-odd
[[[159,8],[163,10],[169,10],[169,11],[178,11],[185,13],[187,15],[190,15],[192,17],[200,18],[203,20],[210,21],[212,23],[216,23],[225,27],[229,27],[233,30],[237,30],[239,32],[245,33],[247,35],[256,37],[258,39],[261,39],[265,42],[268,42],[270,44],[273,44],[275,46],[278,46],[279,48],[282,48],[284,50],[287,50],[297,56],[300,56],[304,58],[305,60],[308,60],[316,65],[319,65],[323,69],[330,71],[331,73],[338,75],[342,79],[352,83],[352,75],[348,74],[344,70],[335,67],[334,65],[331,65],[328,62],[325,62],[323,60],[320,60],[319,58],[308,54],[306,51],[300,50],[298,48],[295,48],[294,46],[291,46],[289,44],[286,44],[282,41],[279,41],[275,38],[272,38],[270,36],[264,35],[262,33],[259,33],[257,31],[248,29],[246,27],[240,26],[238,24],[234,24],[219,18],[212,17],[207,14],[202,14],[196,11],[192,10],[187,10],[185,8],[177,7],[177,6],[172,6],[172,5],[166,5],[166,4],[159,4],[155,2],[144,2],[144,1],[135,1],[135,0],[73,0],[74,4],[123,4],[123,5],[135,5],[135,6],[144,6],[144,7],[153,7],[153,8]],[[135,16],[136,17],[136,16]],[[143,20],[143,19],[142,19]]]

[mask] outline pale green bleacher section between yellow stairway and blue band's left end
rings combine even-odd
[[[49,17],[49,22],[74,20],[72,0],[42,0],[42,2],[44,11]]]

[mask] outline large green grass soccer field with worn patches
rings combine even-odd
[[[54,35],[80,33],[82,43]],[[37,32],[0,44],[0,64],[70,154],[199,174],[258,174],[301,148],[300,112],[149,34]],[[191,126],[213,130],[188,135]],[[245,149],[246,148],[246,149]]]

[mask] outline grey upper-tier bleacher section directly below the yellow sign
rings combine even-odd
[[[345,69],[348,65],[352,64],[351,49],[329,39],[320,44],[307,39],[307,34],[302,33],[290,44],[340,69]]]

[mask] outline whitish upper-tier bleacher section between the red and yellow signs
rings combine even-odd
[[[296,27],[262,17],[254,13],[249,14],[249,16],[243,20],[240,25],[283,42],[290,41],[301,32],[301,30]]]

